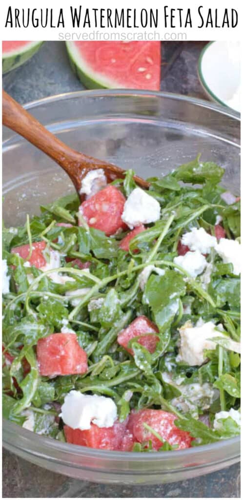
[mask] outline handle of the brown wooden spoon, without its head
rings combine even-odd
[[[57,139],[4,90],[2,90],[2,123],[41,149],[59,163],[69,175],[70,162],[72,160],[75,162],[77,159],[80,162],[80,153]],[[85,162],[84,155],[83,160]]]

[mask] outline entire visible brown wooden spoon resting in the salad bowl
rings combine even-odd
[[[103,168],[108,182],[115,178],[124,177],[125,170],[123,168],[79,153],[61,142],[4,90],[2,90],[2,123],[22,135],[58,163],[69,175],[81,201],[84,196],[79,191],[82,179],[88,171]],[[133,178],[139,186],[145,189],[149,187],[149,183],[141,177],[134,175]]]

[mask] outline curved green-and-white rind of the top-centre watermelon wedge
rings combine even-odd
[[[96,74],[95,71],[87,67],[73,42],[66,41],[65,43],[70,66],[77,78],[86,88],[114,88],[114,86],[115,88],[119,88],[119,85],[114,84],[114,81]]]

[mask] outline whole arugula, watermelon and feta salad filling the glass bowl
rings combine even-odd
[[[3,416],[93,448],[240,429],[240,203],[199,156],[137,187],[102,169],[3,228]],[[228,203],[229,200],[229,203]]]

